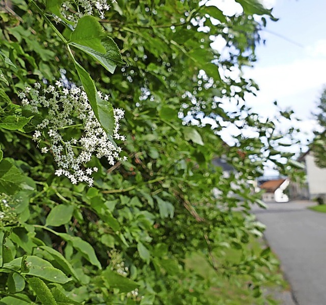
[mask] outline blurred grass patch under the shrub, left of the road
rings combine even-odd
[[[256,255],[261,252],[261,242],[257,240],[251,240],[248,244],[249,250],[252,250]],[[240,260],[240,251],[234,249],[227,249],[225,256],[216,256],[216,260],[219,261],[219,265],[224,265],[226,262],[237,262]],[[266,304],[262,298],[255,298],[252,291],[248,287],[250,283],[250,277],[246,275],[232,276],[231,279],[227,279],[219,272],[216,272],[206,261],[202,254],[194,253],[186,260],[188,268],[201,275],[207,283],[210,284],[210,288],[207,291],[207,295],[211,300],[211,304],[214,305],[254,305],[254,304]],[[270,304],[277,304],[273,301],[274,292],[282,292],[288,290],[289,286],[284,281],[282,273],[279,267],[275,267],[269,270],[266,267],[259,267],[258,272],[270,275],[276,275],[279,278],[279,283],[266,283],[265,296],[270,299]]]

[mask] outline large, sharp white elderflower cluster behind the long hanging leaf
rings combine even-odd
[[[38,113],[43,108],[48,114],[37,126],[33,140],[39,143],[43,140],[42,145],[45,143],[46,146],[41,148],[41,152],[52,153],[59,167],[55,174],[65,175],[73,184],[86,181],[92,186],[93,178],[90,175],[98,169],[85,169],[85,164],[91,160],[93,153],[97,158],[105,157],[109,164],[114,165],[116,160],[121,160],[121,148],[107,138],[83,89],[72,87],[69,90],[62,86],[62,82],[57,81],[56,86],[49,85],[41,89],[41,84],[37,82],[34,88],[25,87],[18,97],[22,105],[30,107],[32,112]],[[102,97],[100,92],[98,94]],[[105,96],[104,100],[107,101],[108,96]],[[122,109],[114,109],[116,128],[113,138],[124,141],[125,136],[118,134],[119,120],[123,116]],[[79,139],[67,139],[65,131],[73,131],[76,127],[82,130],[82,135]],[[124,157],[123,161],[126,159]]]

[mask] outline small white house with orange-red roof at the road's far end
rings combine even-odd
[[[289,185],[289,179],[281,178],[267,180],[260,185],[260,189],[265,193],[262,196],[264,202],[288,202],[289,197],[284,193]]]

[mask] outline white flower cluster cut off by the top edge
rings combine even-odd
[[[116,2],[116,0],[112,0]],[[107,4],[107,0],[66,0],[62,3],[62,15],[77,23],[78,19],[93,15],[96,11],[101,19],[104,19],[105,12],[110,9],[110,5]],[[56,22],[61,21],[60,18],[56,17]]]

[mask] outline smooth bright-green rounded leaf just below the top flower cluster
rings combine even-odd
[[[105,47],[101,44],[103,37],[105,37],[105,33],[98,19],[93,16],[85,16],[78,20],[76,28],[71,33],[69,43],[76,43],[99,53],[105,53]]]

